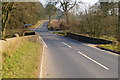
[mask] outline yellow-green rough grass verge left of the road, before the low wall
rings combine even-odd
[[[2,52],[3,78],[37,78],[42,44],[38,44],[36,38],[22,37],[4,42],[7,47]]]

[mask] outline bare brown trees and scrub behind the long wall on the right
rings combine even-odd
[[[89,7],[85,6],[84,2],[76,3],[76,0],[59,1],[64,14],[63,20],[60,19],[56,22],[56,24],[60,22],[59,28],[62,27],[64,32],[72,32],[83,36],[113,41],[113,44],[109,45],[109,49],[119,51],[120,1],[97,2]],[[82,11],[80,9],[82,9],[83,6],[87,8]],[[58,28],[57,26],[55,27],[53,23],[51,23],[50,26],[52,30]],[[101,47],[108,48],[105,46],[108,45],[102,45]]]

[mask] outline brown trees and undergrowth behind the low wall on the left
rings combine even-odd
[[[45,9],[39,2],[2,2],[2,37],[19,34],[35,28],[46,18]],[[28,25],[28,26],[26,26]]]

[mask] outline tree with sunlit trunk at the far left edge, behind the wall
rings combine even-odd
[[[5,35],[7,22],[10,18],[10,13],[14,9],[14,2],[2,3],[2,35]]]

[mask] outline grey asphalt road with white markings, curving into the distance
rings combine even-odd
[[[43,78],[118,78],[118,56],[48,31],[35,29],[44,41]]]

